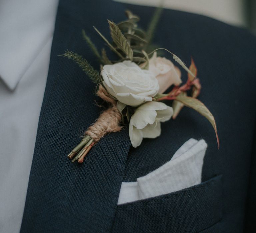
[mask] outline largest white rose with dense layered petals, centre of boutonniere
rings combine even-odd
[[[154,74],[148,70],[142,70],[131,61],[105,65],[101,75],[107,91],[120,102],[130,106],[152,101],[152,97],[159,90]]]

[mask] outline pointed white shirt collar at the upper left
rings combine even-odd
[[[0,2],[0,78],[14,90],[53,34],[58,0]]]

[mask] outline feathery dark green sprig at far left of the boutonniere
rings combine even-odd
[[[71,59],[76,64],[78,64],[89,76],[92,82],[98,84],[101,81],[99,72],[95,70],[86,59],[82,58],[81,55],[67,50],[62,56],[67,57],[68,59]]]

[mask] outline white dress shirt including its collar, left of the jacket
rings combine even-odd
[[[58,0],[0,1],[0,232],[20,231]]]

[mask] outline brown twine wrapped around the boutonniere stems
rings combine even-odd
[[[107,133],[118,132],[122,129],[119,125],[122,115],[116,107],[116,101],[109,95],[106,89],[100,85],[97,95],[104,101],[111,104],[107,110],[103,111],[94,124],[92,124],[85,135],[89,135],[97,143]]]

